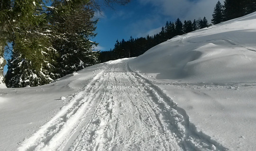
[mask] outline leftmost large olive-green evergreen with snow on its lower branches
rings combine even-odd
[[[7,13],[9,21],[12,23],[5,26],[7,41],[13,42],[12,57],[15,61],[9,61],[9,70],[18,67],[19,70],[12,70],[11,74],[8,74],[7,79],[15,81],[15,84],[9,84],[9,86],[24,86],[23,83],[26,80],[26,85],[36,86],[34,84],[48,84],[52,81],[43,80],[37,81],[40,76],[52,76],[48,71],[52,71],[53,52],[51,47],[50,34],[47,32],[46,13],[42,8],[42,0],[15,0],[12,3],[11,11]],[[4,11],[3,11],[4,12]],[[18,54],[18,55],[16,55]],[[17,57],[14,58],[14,57]],[[22,61],[22,63],[19,63]],[[24,66],[24,67],[22,67]],[[29,67],[29,68],[27,68]],[[24,69],[24,70],[23,70]],[[22,71],[22,72],[21,72]],[[22,75],[36,75],[38,78],[32,78],[29,80],[26,77],[21,78]],[[33,76],[35,77],[35,76]]]

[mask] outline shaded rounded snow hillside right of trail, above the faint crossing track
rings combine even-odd
[[[176,36],[130,61],[155,79],[256,82],[256,13]]]

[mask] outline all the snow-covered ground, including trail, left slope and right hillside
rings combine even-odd
[[[255,126],[256,13],[0,89],[0,151],[254,151]]]

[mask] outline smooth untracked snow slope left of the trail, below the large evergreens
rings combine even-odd
[[[100,69],[99,65],[88,67],[86,72],[43,86],[0,89],[0,151],[17,150],[24,139],[69,104]]]

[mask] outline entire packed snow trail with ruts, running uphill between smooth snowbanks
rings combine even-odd
[[[19,151],[225,151],[158,87],[108,64]]]

